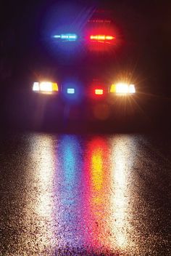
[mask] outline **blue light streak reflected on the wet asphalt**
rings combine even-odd
[[[81,175],[83,159],[80,155],[80,143],[78,137],[74,135],[62,135],[60,145],[57,150],[59,161],[59,230],[62,239],[59,247],[75,244],[83,244],[83,231],[78,227],[81,223]],[[77,229],[75,228],[77,227]],[[67,237],[67,239],[66,239]]]

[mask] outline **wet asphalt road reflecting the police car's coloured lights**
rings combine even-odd
[[[0,255],[171,255],[168,135],[1,135]]]

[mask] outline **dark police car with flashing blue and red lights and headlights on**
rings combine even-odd
[[[57,65],[33,81],[37,120],[47,115],[53,120],[115,121],[134,115],[136,87],[132,74],[114,59],[120,36],[110,16],[96,10],[81,28],[57,27],[49,35]]]

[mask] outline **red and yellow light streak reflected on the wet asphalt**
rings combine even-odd
[[[96,137],[88,143],[86,161],[86,207],[83,219],[87,223],[86,243],[94,249],[109,246],[109,147],[107,140]]]

